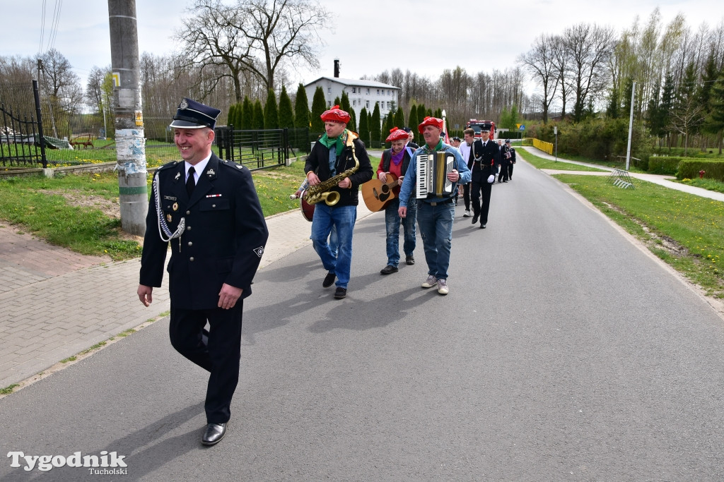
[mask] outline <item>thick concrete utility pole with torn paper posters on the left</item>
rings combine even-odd
[[[108,0],[108,17],[121,228],[127,233],[143,236],[148,212],[148,172],[139,87],[135,0]]]

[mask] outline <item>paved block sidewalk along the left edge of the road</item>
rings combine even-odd
[[[362,202],[358,220],[372,214]],[[299,210],[266,218],[260,270],[311,244]],[[0,388],[159,317],[170,308],[167,277],[153,304],[138,301],[140,258],[73,253],[0,223]]]

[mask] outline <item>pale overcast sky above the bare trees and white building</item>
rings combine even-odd
[[[190,0],[137,0],[140,52],[164,55],[174,50],[171,36],[180,27]],[[505,70],[531,48],[542,33],[562,33],[581,22],[614,27],[616,33],[645,26],[656,7],[662,25],[683,13],[693,30],[724,21],[720,0],[358,0],[320,2],[331,14],[334,31],[322,33],[321,68],[291,72],[294,84],[332,76],[340,59],[340,77],[358,79],[397,67],[437,79],[443,69],[462,66],[469,74]],[[45,22],[43,24],[43,4]],[[54,30],[56,5],[61,5]],[[504,4],[509,7],[498,7]],[[474,5],[475,7],[466,7]],[[106,0],[0,0],[0,55],[35,56],[53,46],[82,79],[93,66],[111,64]],[[484,11],[480,6],[485,6]],[[41,43],[42,32],[42,43]],[[292,88],[292,91],[295,90]],[[530,93],[530,92],[529,92]]]

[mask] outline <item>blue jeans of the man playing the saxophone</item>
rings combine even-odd
[[[319,254],[324,269],[337,275],[339,288],[347,288],[352,264],[352,231],[357,220],[357,206],[327,206],[319,202],[314,207],[312,218],[312,240],[314,251]],[[327,243],[327,238],[337,229],[337,253]]]

